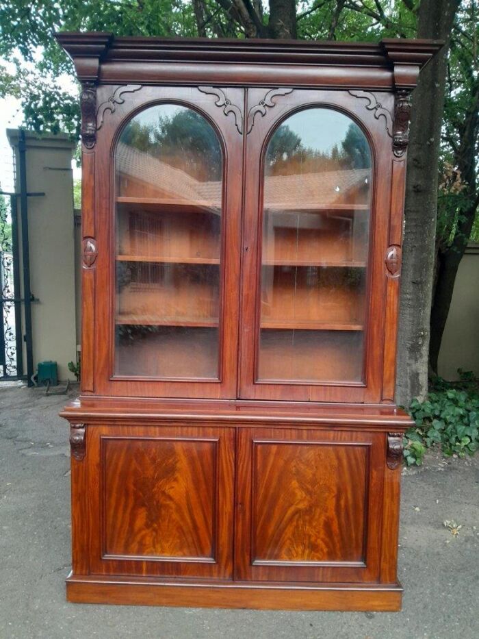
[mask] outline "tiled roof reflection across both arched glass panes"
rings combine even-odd
[[[220,206],[220,181],[200,181],[180,168],[174,168],[122,142],[116,149],[116,167],[123,177],[157,188],[162,194],[168,193],[172,199],[191,203],[207,201],[212,206]],[[370,181],[370,174],[369,168],[351,168],[322,173],[270,175],[265,181],[265,203],[270,208],[354,203],[359,199],[354,195]]]

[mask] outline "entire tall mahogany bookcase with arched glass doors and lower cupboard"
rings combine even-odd
[[[68,599],[398,610],[406,147],[438,45],[57,38],[82,83]]]

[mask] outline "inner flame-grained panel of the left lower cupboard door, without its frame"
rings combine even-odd
[[[218,440],[102,438],[104,556],[215,561]]]

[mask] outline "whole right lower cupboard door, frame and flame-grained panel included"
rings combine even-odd
[[[235,578],[378,581],[383,444],[381,434],[242,431]]]

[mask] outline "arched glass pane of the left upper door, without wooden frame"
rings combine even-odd
[[[218,379],[222,151],[192,109],[135,116],[116,147],[116,375]]]

